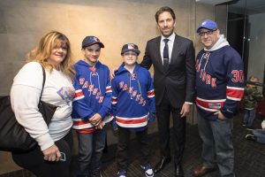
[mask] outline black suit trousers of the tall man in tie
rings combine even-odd
[[[186,118],[180,117],[181,108],[175,108],[164,93],[162,103],[156,105],[156,117],[161,155],[170,158],[170,113],[173,119],[174,162],[178,165],[183,158],[186,142]]]

